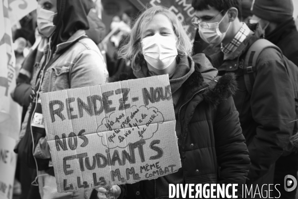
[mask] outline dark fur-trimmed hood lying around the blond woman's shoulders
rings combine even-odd
[[[199,94],[210,105],[216,107],[223,100],[236,93],[237,83],[234,74],[226,73],[224,76],[219,77],[217,69],[213,68],[204,54],[195,55],[193,61],[195,62],[195,71],[184,83],[187,94],[190,93],[190,96],[192,96],[192,94],[203,90]],[[130,79],[137,78],[133,73],[122,73],[116,81]]]

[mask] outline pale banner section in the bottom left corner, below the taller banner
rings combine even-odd
[[[0,199],[12,199],[16,154],[15,140],[0,133]]]

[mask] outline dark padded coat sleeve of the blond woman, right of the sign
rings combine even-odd
[[[238,184],[237,196],[241,198],[242,185],[250,167],[245,138],[232,97],[222,101],[214,120],[215,145],[220,166],[219,184]],[[231,193],[231,191],[230,191]]]

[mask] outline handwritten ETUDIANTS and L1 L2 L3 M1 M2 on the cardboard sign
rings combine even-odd
[[[144,148],[143,148],[143,145],[145,143],[146,143],[145,140],[140,140],[136,143],[130,144],[129,145],[130,153],[128,153],[126,150],[123,150],[122,151],[122,159],[120,159],[119,152],[116,149],[114,150],[112,157],[111,157],[109,149],[106,150],[106,154],[107,154],[106,156],[101,153],[97,153],[93,156],[92,165],[90,164],[90,160],[89,160],[87,153],[76,154],[76,155],[64,157],[63,158],[64,174],[67,176],[67,175],[71,175],[74,173],[74,170],[71,170],[71,165],[68,164],[67,161],[71,161],[71,160],[75,160],[75,159],[77,159],[79,162],[79,168],[80,168],[81,172],[84,172],[85,169],[94,170],[96,168],[96,166],[99,169],[105,168],[106,166],[110,166],[110,165],[115,166],[116,162],[118,162],[119,166],[123,166],[126,164],[126,160],[128,160],[130,165],[136,164],[135,149],[137,149],[137,148],[139,150],[141,162],[145,162],[146,160],[145,160]],[[156,160],[163,156],[163,150],[160,147],[155,146],[156,144],[159,144],[159,143],[160,143],[160,140],[153,140],[150,143],[149,148],[152,149],[153,151],[157,152],[157,154],[149,157],[149,160]],[[103,177],[100,177],[99,180],[97,180],[96,173],[93,173],[92,175],[93,175],[93,185],[94,186],[99,186],[99,185],[105,186],[106,185],[106,181],[104,180]],[[134,167],[131,167],[130,169],[128,169],[128,168],[126,169],[126,179],[127,180],[130,179],[130,175],[133,176],[134,180],[141,179],[139,174],[137,174],[135,172]],[[118,181],[121,181],[122,183],[125,182],[125,179],[121,176],[119,169],[111,171],[111,179],[112,179],[112,181],[115,181],[116,179],[118,179]],[[78,188],[89,188],[89,184],[86,181],[82,182],[80,177],[77,177],[77,187]],[[73,184],[68,185],[67,179],[64,179],[64,191],[68,191],[68,190],[74,190],[74,186],[73,186]]]

